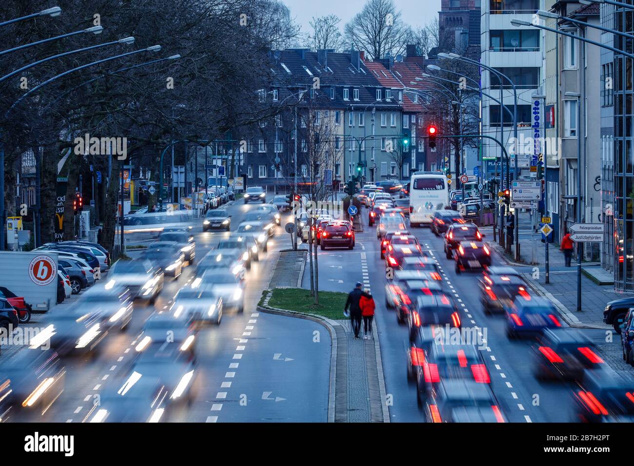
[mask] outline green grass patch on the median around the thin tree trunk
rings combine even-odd
[[[271,293],[271,299],[269,299],[268,305],[271,307],[302,314],[317,314],[328,319],[344,318],[344,306],[348,297],[346,293],[320,291],[320,304],[314,304],[314,297],[311,296],[310,290],[273,288],[273,290],[264,290],[262,300],[269,293]]]

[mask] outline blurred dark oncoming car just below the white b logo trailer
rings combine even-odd
[[[101,313],[84,309],[78,302],[52,314],[51,323],[30,340],[30,349],[36,349],[49,340],[51,348],[60,356],[92,356],[107,333]]]

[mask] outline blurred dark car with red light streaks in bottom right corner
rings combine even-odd
[[[573,398],[577,422],[634,421],[634,383],[616,373],[587,371]]]

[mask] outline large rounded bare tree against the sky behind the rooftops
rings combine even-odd
[[[368,58],[403,53],[412,36],[393,0],[368,0],[344,28],[346,45],[365,50]]]

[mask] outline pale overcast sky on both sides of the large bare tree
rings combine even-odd
[[[308,22],[313,16],[337,15],[343,30],[344,24],[361,11],[366,0],[281,0],[290,8],[290,16],[302,27],[303,33],[309,32]],[[441,0],[394,0],[396,8],[401,10],[403,18],[413,28],[429,23],[438,16]]]

